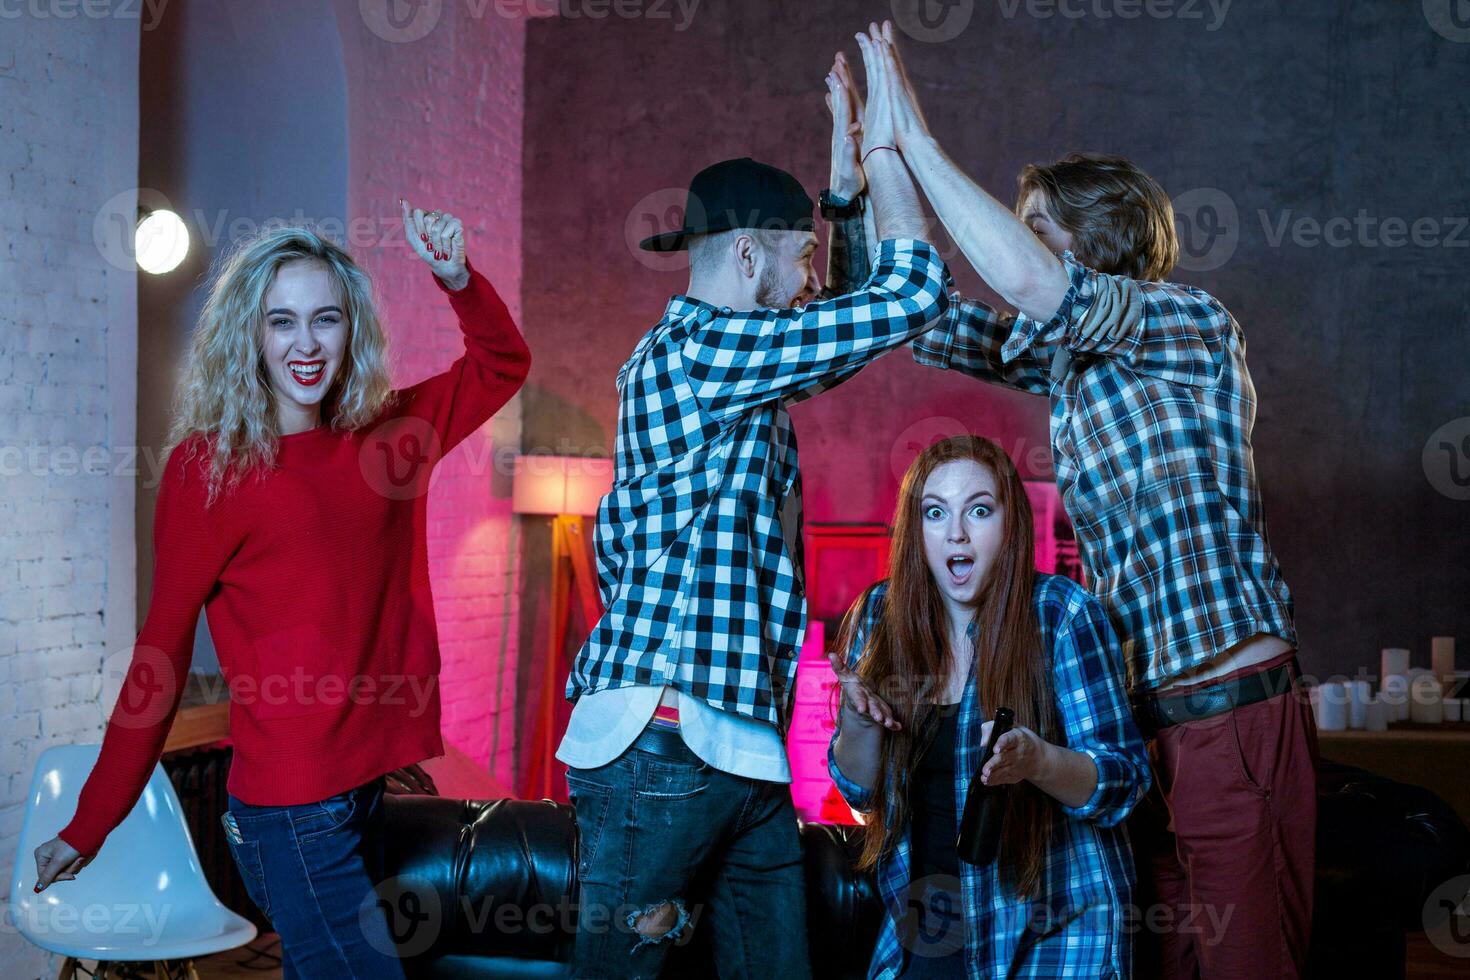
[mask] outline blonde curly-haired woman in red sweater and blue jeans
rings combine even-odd
[[[231,691],[226,836],[287,980],[403,977],[370,893],[384,774],[442,752],[429,475],[531,366],[460,220],[401,207],[465,356],[394,391],[368,275],[345,251],[287,228],[231,254],[169,439],[148,614],[76,815],[35,849],[37,890],[71,880],[132,810],[203,608]]]

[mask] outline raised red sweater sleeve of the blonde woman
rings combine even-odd
[[[467,263],[466,263],[467,264]],[[495,287],[469,269],[469,285],[451,291],[434,279],[459,316],[465,354],[450,369],[398,392],[398,414],[425,419],[448,453],[485,425],[520,389],[531,372],[531,350]]]

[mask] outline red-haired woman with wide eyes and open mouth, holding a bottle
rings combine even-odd
[[[925,450],[898,494],[889,577],[848,611],[828,752],[869,814],[861,864],[886,915],[870,977],[1127,977],[1133,861],[1122,820],[1150,783],[1102,607],[1035,567],[1010,457]],[[995,710],[1014,727],[976,771]],[[1000,852],[960,860],[972,780],[1004,789]]]

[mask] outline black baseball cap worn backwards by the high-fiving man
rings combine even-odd
[[[769,163],[750,157],[722,160],[689,181],[684,228],[644,238],[638,247],[645,251],[682,251],[689,247],[689,235],[735,228],[814,231],[811,198],[797,178]]]

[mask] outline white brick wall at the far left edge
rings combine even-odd
[[[125,447],[134,441],[137,304],[134,276],[110,259],[135,207],[137,54],[137,19],[26,13],[0,22],[6,889],[31,770],[49,745],[98,738],[100,667],[134,630]],[[98,225],[98,213],[123,223]],[[9,926],[0,961],[7,977],[54,973]]]

